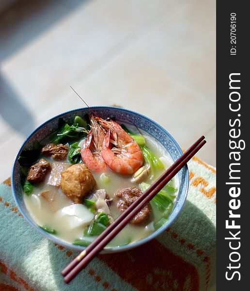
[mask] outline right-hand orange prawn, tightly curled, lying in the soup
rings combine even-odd
[[[116,173],[133,174],[136,172],[143,163],[140,146],[113,120],[106,121],[98,118],[98,122],[107,130],[101,150],[103,160]],[[112,148],[111,144],[113,144]]]

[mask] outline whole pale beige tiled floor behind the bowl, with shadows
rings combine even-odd
[[[20,0],[0,15],[0,181],[39,124],[117,104],[216,166],[215,0]]]

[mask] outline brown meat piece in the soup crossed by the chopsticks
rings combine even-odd
[[[119,199],[117,202],[117,208],[120,212],[124,212],[128,206],[134,202],[142,192],[137,187],[127,187],[120,190],[117,190],[114,194],[114,197]],[[138,225],[147,221],[151,213],[151,207],[149,204],[146,204],[136,216],[130,220],[130,223],[133,225]]]

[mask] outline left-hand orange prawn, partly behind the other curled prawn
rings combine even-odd
[[[108,169],[101,155],[106,131],[97,124],[93,115],[90,115],[90,122],[91,130],[82,145],[81,158],[91,171],[94,173],[102,173]]]

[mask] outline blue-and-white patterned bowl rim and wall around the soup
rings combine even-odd
[[[166,130],[163,129],[160,125],[158,125],[155,121],[151,120],[150,118],[136,113],[130,110],[126,110],[123,108],[116,108],[116,107],[92,107],[94,113],[102,118],[107,117],[115,117],[115,120],[118,122],[128,123],[136,126],[139,129],[143,129],[151,136],[153,136],[162,146],[166,148],[169,152],[170,156],[172,157],[173,162],[177,160],[181,155],[182,151],[176,141],[173,139],[171,134]],[[12,170],[12,189],[13,194],[17,203],[17,206],[23,216],[28,220],[28,222],[35,227],[40,233],[46,236],[48,239],[51,239],[54,242],[62,244],[65,247],[73,248],[76,250],[83,250],[84,247],[75,246],[67,242],[62,242],[61,240],[55,238],[54,236],[50,235],[49,233],[45,232],[44,230],[40,229],[35,222],[32,220],[30,214],[28,213],[26,206],[23,201],[22,197],[22,190],[21,190],[21,183],[20,183],[20,165],[17,161],[18,156],[20,155],[23,149],[32,149],[34,142],[38,140],[39,142],[43,141],[48,135],[53,133],[58,129],[58,120],[59,118],[63,118],[64,121],[68,123],[73,123],[74,118],[76,115],[84,117],[85,114],[91,114],[92,111],[89,108],[80,108],[73,111],[69,111],[66,113],[62,113],[54,118],[51,118],[37,129],[35,129],[31,135],[25,140],[21,148],[19,149],[15,162],[13,164]],[[179,214],[181,208],[183,207],[186,197],[187,197],[187,190],[188,190],[188,170],[187,166],[183,167],[181,171],[178,173],[179,179],[179,191],[178,196],[175,202],[175,206],[172,210],[172,213],[169,216],[168,222],[157,229],[154,233],[143,238],[141,241],[134,242],[132,244],[121,246],[121,247],[114,247],[104,250],[103,253],[111,253],[115,251],[122,251],[126,249],[130,249],[132,247],[141,245],[144,242],[148,242],[152,238],[156,237],[159,233],[161,233],[164,229],[166,229],[172,221],[176,218]]]

